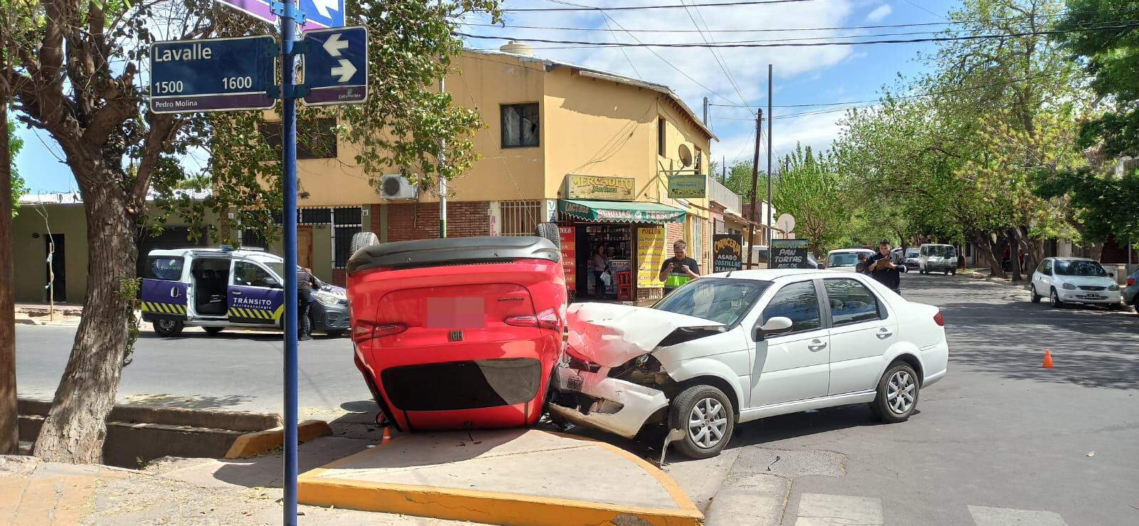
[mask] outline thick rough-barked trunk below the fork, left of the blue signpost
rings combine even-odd
[[[117,184],[89,186],[83,200],[89,254],[83,319],[34,452],[55,462],[97,463],[101,459],[106,418],[123,370],[126,320],[133,315],[131,298],[122,293],[123,281],[134,279],[138,260],[126,195]]]

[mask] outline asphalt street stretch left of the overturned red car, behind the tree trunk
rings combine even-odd
[[[67,364],[75,329],[16,328],[16,383],[21,396],[51,400]],[[302,416],[325,417],[371,396],[355,365],[349,338],[300,343]],[[187,329],[159,338],[144,323],[133,361],[123,369],[121,403],[156,406],[281,412],[284,359],[280,332]]]

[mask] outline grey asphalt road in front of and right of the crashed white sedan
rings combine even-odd
[[[962,278],[902,287],[942,307],[951,346],[919,414],[875,425],[847,406],[737,427],[734,461],[672,468],[726,480],[708,523],[770,524],[775,492],[782,524],[1139,524],[1139,315]],[[1040,368],[1046,348],[1055,369]]]

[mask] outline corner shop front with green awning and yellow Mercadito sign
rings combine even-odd
[[[566,187],[570,198],[558,200],[558,223],[571,296],[577,301],[659,298],[664,283],[656,274],[666,257],[664,225],[683,223],[685,211],[632,200],[631,178],[570,175]],[[608,264],[608,277],[598,279],[605,269],[595,268],[595,261]]]

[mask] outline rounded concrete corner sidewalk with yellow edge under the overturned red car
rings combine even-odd
[[[703,515],[649,462],[539,429],[401,435],[301,476],[316,506],[489,524],[697,525]]]

